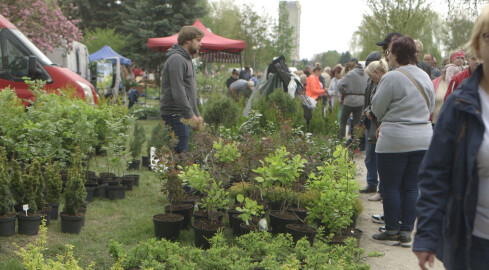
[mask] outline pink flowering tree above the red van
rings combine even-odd
[[[71,49],[73,41],[83,38],[78,21],[66,18],[55,0],[3,0],[0,14],[43,51]]]

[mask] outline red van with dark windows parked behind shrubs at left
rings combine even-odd
[[[76,94],[90,104],[97,103],[93,85],[73,71],[56,66],[9,20],[0,15],[0,91],[15,88],[17,96],[33,100],[34,94],[22,77],[46,81],[48,90],[75,87]]]

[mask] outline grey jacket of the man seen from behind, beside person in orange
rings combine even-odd
[[[338,91],[345,96],[343,105],[350,107],[363,106],[365,99],[365,88],[367,77],[361,65],[346,73],[345,77],[338,82]]]

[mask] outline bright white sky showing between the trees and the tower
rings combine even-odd
[[[219,0],[211,0],[217,2]],[[278,17],[279,0],[234,0],[237,5],[250,4],[258,14]],[[299,0],[301,5],[300,59],[314,54],[350,49],[350,40],[370,11],[365,0]],[[444,0],[427,0],[432,6],[446,9]]]

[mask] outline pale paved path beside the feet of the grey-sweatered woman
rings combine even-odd
[[[357,164],[357,179],[360,182],[360,187],[363,188],[366,182],[367,170],[365,168],[365,152],[360,152],[355,157]],[[385,255],[382,257],[366,257],[365,262],[371,265],[372,270],[416,270],[418,267],[418,260],[411,248],[393,247],[376,243],[372,240],[372,234],[378,232],[379,224],[375,224],[370,220],[373,214],[382,213],[382,203],[368,201],[367,198],[372,194],[360,193],[360,198],[363,202],[363,213],[358,217],[357,228],[363,231],[363,236],[360,240],[360,247],[364,248],[365,256],[369,253],[377,251],[382,252]],[[435,267],[433,269],[445,269],[440,261],[435,261]]]

